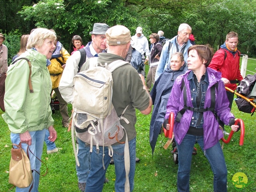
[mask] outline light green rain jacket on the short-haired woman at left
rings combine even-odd
[[[2,114],[12,133],[24,133],[48,128],[54,124],[50,108],[52,81],[46,68],[46,56],[36,50],[27,50],[20,57],[31,62],[31,81],[34,92],[28,87],[29,67],[25,59],[10,65],[5,81]],[[18,58],[20,58],[18,57]]]

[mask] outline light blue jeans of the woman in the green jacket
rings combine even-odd
[[[41,131],[29,132],[30,136],[32,138],[32,144],[29,146],[29,148],[32,151],[32,153],[34,155],[36,155],[39,159],[41,159],[41,156],[43,153],[45,132],[46,132],[46,129],[41,130]],[[18,145],[20,143],[20,134],[11,133],[11,141],[12,141],[12,143],[15,143]],[[24,149],[24,151],[27,152],[28,145],[22,143],[21,146]],[[32,155],[29,152],[31,170],[36,170],[40,173],[41,162],[34,155]],[[33,181],[33,188],[31,190],[31,192],[38,192],[40,175],[38,173],[36,173],[35,171],[33,171],[32,174],[33,174],[34,181]],[[26,188],[16,187],[16,192],[28,192],[30,189],[30,186],[28,186]]]

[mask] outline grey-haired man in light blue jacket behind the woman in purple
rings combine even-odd
[[[192,32],[192,28],[186,24],[180,24],[178,28],[178,35],[168,40],[166,44],[164,44],[162,53],[160,56],[159,64],[156,68],[156,76],[155,81],[158,79],[160,74],[164,72],[167,64],[170,63],[170,56],[175,52],[180,52],[184,55],[184,60],[186,62],[188,58],[188,48],[192,46],[192,44],[188,41],[190,34]]]

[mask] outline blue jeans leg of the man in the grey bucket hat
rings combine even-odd
[[[87,177],[91,169],[90,145],[86,144],[79,138],[77,138],[77,140],[78,140],[77,158],[80,166],[76,165],[76,175],[78,177],[78,182],[86,183]]]

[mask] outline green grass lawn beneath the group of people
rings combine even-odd
[[[254,60],[248,60],[248,68],[251,71],[256,68]],[[249,66],[250,65],[250,66]],[[251,66],[252,65],[252,66]],[[148,70],[148,66],[146,67]],[[253,69],[253,70],[252,70]],[[69,111],[71,106],[69,105]],[[255,125],[256,115],[250,116],[239,112],[234,102],[232,112],[237,118],[242,118],[245,124],[244,145],[239,146],[240,132],[235,133],[229,144],[224,145],[224,156],[228,168],[228,180],[232,180],[232,176],[236,172],[244,172],[248,181],[256,182],[256,142],[255,142]],[[40,192],[79,192],[77,187],[77,176],[75,167],[75,158],[72,150],[71,132],[67,132],[66,128],[61,126],[61,116],[59,111],[53,114],[55,120],[55,128],[58,133],[56,146],[59,152],[56,154],[46,154],[46,145],[42,160],[46,162],[49,172],[45,177],[40,178]],[[151,114],[146,116],[137,111],[137,157],[140,162],[136,164],[136,174],[134,180],[134,192],[175,192],[176,177],[178,165],[172,160],[171,148],[164,150],[163,146],[167,139],[164,136],[158,137],[154,156],[149,144],[149,126]],[[0,192],[7,192],[11,187],[8,184],[8,170],[10,162],[10,131],[8,126],[0,118]],[[231,129],[226,126],[226,130]],[[194,192],[212,192],[213,174],[210,165],[199,146],[198,154],[192,156],[191,174],[190,174],[190,190]],[[42,172],[45,168],[42,166]],[[104,184],[104,192],[114,192],[114,166],[109,166],[106,177],[110,180],[108,184]],[[12,192],[15,190],[12,189]],[[231,182],[228,182],[228,191],[236,192]],[[252,183],[241,190],[242,192],[256,191],[256,184]]]

